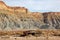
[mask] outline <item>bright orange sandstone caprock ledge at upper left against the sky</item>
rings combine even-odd
[[[24,7],[10,7],[7,6],[3,1],[0,1],[0,9],[2,10],[7,10],[7,11],[11,11],[11,12],[22,12],[22,13],[27,13],[27,9]]]

